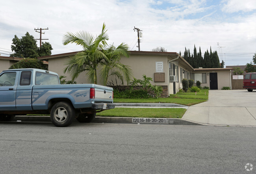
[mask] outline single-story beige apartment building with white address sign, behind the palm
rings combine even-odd
[[[67,66],[65,63],[70,56],[78,52],[63,53],[50,56],[39,57],[38,60],[47,60],[49,71],[57,72],[59,75],[67,76],[63,72]],[[232,68],[216,69],[194,69],[180,54],[175,52],[152,52],[152,51],[130,51],[129,58],[122,57],[121,63],[130,66],[134,78],[142,79],[142,75],[151,77],[152,85],[163,87],[161,96],[167,97],[169,94],[175,94],[182,88],[182,79],[193,79],[201,82],[201,86],[208,86],[210,89],[221,89],[222,87],[231,86]],[[80,74],[75,80],[77,83],[89,83],[85,72]],[[115,81],[113,78],[109,81]],[[127,85],[127,84],[124,84]]]

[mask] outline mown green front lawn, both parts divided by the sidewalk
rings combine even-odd
[[[114,98],[114,103],[176,103],[186,106],[195,105],[208,100],[208,89],[201,92],[178,92],[169,98]],[[96,116],[102,117],[139,117],[139,118],[182,118],[186,109],[182,108],[115,108],[99,112]]]

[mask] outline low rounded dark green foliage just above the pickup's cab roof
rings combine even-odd
[[[45,65],[43,61],[33,59],[33,58],[24,58],[9,67],[9,69],[21,69],[21,68],[37,68],[37,69],[48,70],[47,65]]]

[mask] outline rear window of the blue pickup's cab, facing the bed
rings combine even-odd
[[[35,85],[58,85],[59,78],[54,74],[44,72],[35,73]]]

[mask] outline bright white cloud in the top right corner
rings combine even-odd
[[[256,0],[224,0],[223,12],[235,13],[238,11],[252,11],[256,9]]]

